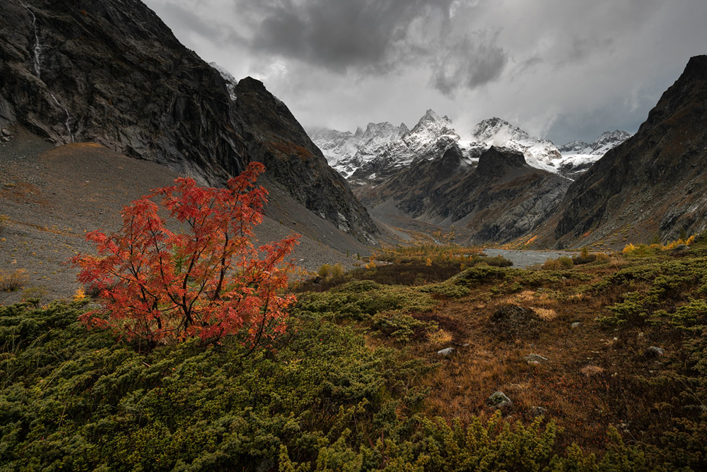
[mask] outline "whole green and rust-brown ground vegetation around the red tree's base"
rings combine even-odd
[[[252,352],[228,339],[141,352],[78,323],[92,304],[81,294],[0,307],[0,463],[707,466],[707,244],[551,270],[482,259],[462,270],[453,258],[408,252],[325,271],[293,287],[286,334]]]

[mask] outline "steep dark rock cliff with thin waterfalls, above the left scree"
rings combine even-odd
[[[202,184],[223,184],[261,160],[267,179],[308,209],[358,240],[375,239],[363,206],[286,107],[251,94],[252,80],[236,106],[235,84],[141,1],[4,0],[0,20],[0,128],[21,123],[57,144],[94,141]],[[249,105],[281,115],[254,120]],[[269,125],[280,127],[268,134]]]

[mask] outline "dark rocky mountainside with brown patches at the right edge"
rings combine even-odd
[[[689,60],[635,136],[568,189],[554,237],[600,240],[626,225],[674,240],[707,225],[707,56]]]

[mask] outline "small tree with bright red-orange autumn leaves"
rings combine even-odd
[[[81,321],[151,346],[235,334],[255,346],[283,332],[295,300],[282,295],[290,269],[283,261],[297,236],[253,244],[267,201],[267,190],[255,186],[263,170],[252,163],[225,189],[176,179],[126,206],[119,232],[88,233],[98,256],[78,254],[71,262],[81,269],[78,281],[98,290],[102,307]]]

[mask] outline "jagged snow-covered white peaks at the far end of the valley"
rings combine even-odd
[[[558,148],[552,141],[530,136],[518,126],[494,117],[474,126],[471,141],[462,141],[448,117],[427,110],[411,130],[405,124],[369,123],[366,131],[318,129],[311,131],[310,137],[329,165],[348,179],[367,164],[386,168],[406,166],[416,158],[435,158],[452,146],[460,148],[469,164],[476,163],[481,152],[497,146],[520,151],[532,167],[560,175],[578,175],[631,134],[607,131],[592,143],[571,141]],[[368,179],[375,175],[372,172]]]

